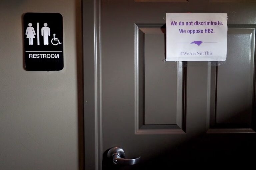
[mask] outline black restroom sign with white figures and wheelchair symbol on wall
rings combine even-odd
[[[59,13],[26,13],[23,16],[23,28],[26,70],[62,70],[62,15]]]

